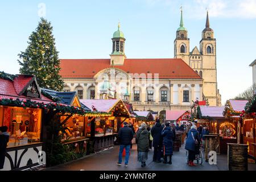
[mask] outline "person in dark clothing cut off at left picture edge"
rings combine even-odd
[[[5,153],[7,143],[9,142],[9,133],[7,133],[8,127],[0,127],[0,169],[3,169],[5,164]]]

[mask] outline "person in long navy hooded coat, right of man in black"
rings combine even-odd
[[[173,140],[174,133],[170,127],[170,123],[166,123],[166,126],[162,132],[163,136],[163,155],[164,155],[164,164],[167,164],[167,158],[169,156],[170,160],[168,164],[172,164],[172,154],[173,154]]]

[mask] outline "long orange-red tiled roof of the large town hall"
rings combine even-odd
[[[98,72],[111,68],[110,59],[61,59],[60,75],[63,78],[93,78]],[[181,59],[125,59],[123,65],[114,68],[129,73],[159,73],[159,78],[172,79],[201,79]]]

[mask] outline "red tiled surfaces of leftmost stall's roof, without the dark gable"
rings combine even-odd
[[[14,100],[16,100],[16,98],[19,98],[20,100],[30,99],[31,101],[36,102],[52,102],[52,100],[44,97],[42,94],[42,98],[19,96],[20,91],[23,90],[24,86],[26,86],[32,78],[33,76],[26,75],[18,75],[18,77],[16,77],[14,81],[0,78],[0,98],[14,98]]]

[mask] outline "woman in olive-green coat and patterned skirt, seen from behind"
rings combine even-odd
[[[146,129],[146,123],[141,124],[142,129],[137,133],[137,150],[138,150],[138,162],[141,162],[141,167],[146,167],[146,160],[148,158],[148,147],[149,147],[149,133]]]

